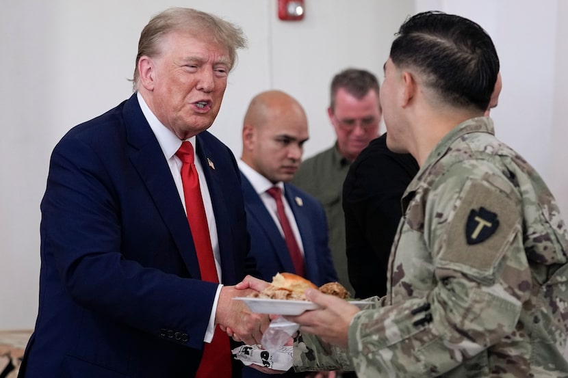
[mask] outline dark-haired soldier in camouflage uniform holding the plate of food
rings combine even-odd
[[[359,310],[318,291],[297,370],[359,377],[568,377],[568,232],[539,174],[485,117],[499,60],[459,16],[409,18],[385,64],[387,145],[420,171],[402,199],[388,293]],[[314,336],[315,335],[315,336]]]

